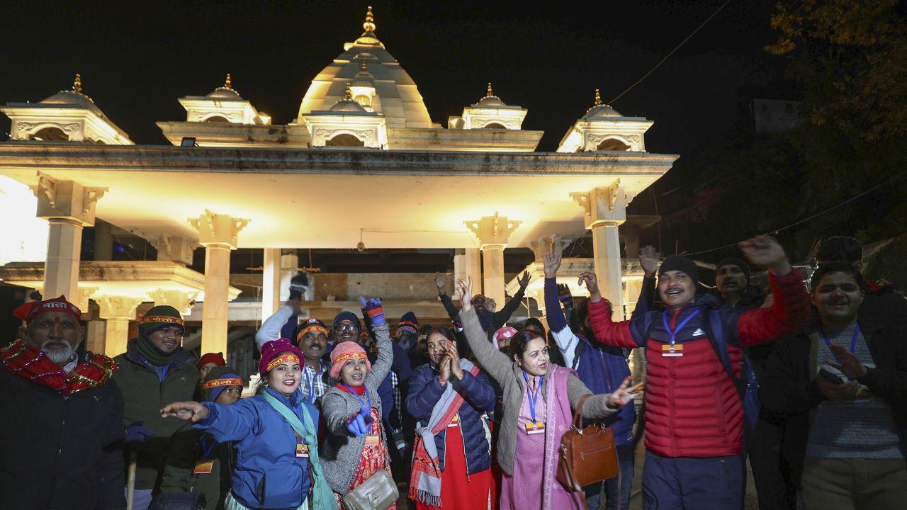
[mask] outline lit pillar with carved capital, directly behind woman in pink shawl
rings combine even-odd
[[[520,221],[508,221],[506,216],[484,216],[481,220],[464,221],[475,234],[482,249],[483,294],[504,306],[504,248],[507,240],[520,226]],[[473,284],[473,289],[475,285]]]

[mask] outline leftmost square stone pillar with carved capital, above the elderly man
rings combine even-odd
[[[44,299],[65,295],[75,299],[82,258],[82,230],[94,224],[94,203],[106,188],[85,188],[75,181],[57,181],[43,173],[32,191],[38,198],[35,216],[50,223],[44,262]]]

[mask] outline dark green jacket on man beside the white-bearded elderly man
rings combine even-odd
[[[138,449],[135,472],[137,490],[153,489],[159,484],[161,472],[167,461],[171,436],[185,422],[177,417],[161,417],[161,407],[171,402],[192,399],[192,393],[199,383],[199,369],[195,357],[183,349],[177,349],[167,368],[164,379],[146,365],[135,347],[135,338],[129,341],[126,352],[113,358],[117,371],[113,374],[123,399],[122,423],[124,427],[133,422],[143,422],[142,427],[150,428],[154,435]],[[129,457],[126,460],[127,473]]]

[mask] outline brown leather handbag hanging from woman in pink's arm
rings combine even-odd
[[[582,405],[589,395],[580,398],[573,413],[570,430],[561,437],[561,455],[558,460],[558,481],[580,496],[586,507],[583,487],[620,475],[618,452],[614,447],[611,429],[592,424],[582,428]]]

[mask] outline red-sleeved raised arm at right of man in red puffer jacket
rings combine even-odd
[[[766,266],[768,282],[772,287],[775,304],[770,309],[752,309],[736,320],[727,330],[736,331],[742,346],[765,343],[803,330],[809,322],[809,294],[800,275],[791,269],[784,248],[767,236],[759,236],[740,243],[740,250],[754,265]],[[731,314],[730,318],[735,318]],[[734,328],[736,326],[736,328]],[[735,338],[730,338],[731,343]]]

